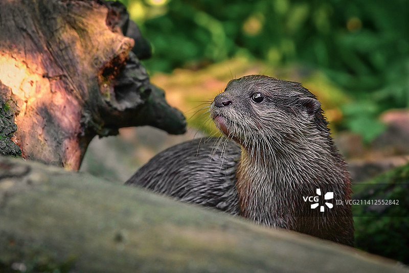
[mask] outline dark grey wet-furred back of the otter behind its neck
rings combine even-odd
[[[142,166],[125,184],[177,199],[239,214],[236,183],[240,147],[217,138],[195,139],[172,146]]]

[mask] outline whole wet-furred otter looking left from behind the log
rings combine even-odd
[[[334,201],[350,199],[350,176],[321,103],[308,89],[264,75],[245,76],[230,81],[209,111],[224,140],[173,146],[126,184],[353,245],[351,206]],[[331,192],[333,198],[324,200]]]

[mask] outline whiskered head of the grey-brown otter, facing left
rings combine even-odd
[[[210,113],[219,130],[247,151],[297,151],[329,138],[321,103],[297,82],[262,75],[232,80]]]

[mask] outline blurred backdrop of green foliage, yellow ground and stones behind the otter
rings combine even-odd
[[[96,138],[82,171],[123,183],[157,152],[217,132],[203,107],[248,74],[310,89],[355,181],[409,162],[407,1],[121,2],[151,42],[151,82],[184,112],[188,132],[138,127]]]

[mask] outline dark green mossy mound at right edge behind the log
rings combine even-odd
[[[353,199],[399,200],[398,205],[352,207],[356,247],[409,263],[409,164],[353,186]]]

